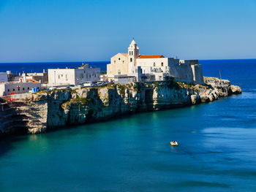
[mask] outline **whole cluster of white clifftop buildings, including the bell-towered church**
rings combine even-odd
[[[48,87],[80,85],[83,82],[154,82],[174,77],[181,82],[203,84],[202,66],[198,60],[165,58],[164,55],[140,55],[134,39],[127,53],[117,53],[107,64],[107,74],[100,68],[82,64],[78,68],[48,69],[42,73],[0,73],[0,96],[39,91]]]

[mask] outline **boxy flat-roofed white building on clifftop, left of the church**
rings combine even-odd
[[[84,64],[78,68],[48,69],[48,85],[78,85],[80,82],[99,80],[100,69]]]

